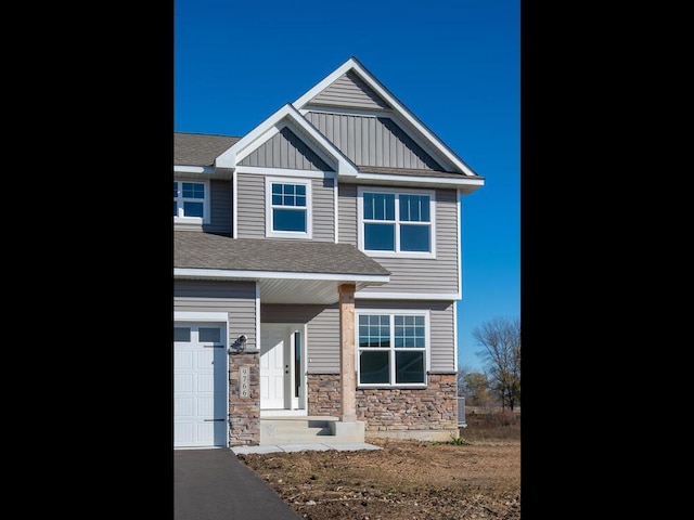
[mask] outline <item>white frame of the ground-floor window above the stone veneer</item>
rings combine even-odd
[[[416,351],[421,352],[422,349],[412,348],[397,348],[395,347],[395,315],[399,316],[424,316],[424,382],[369,382],[363,384],[361,381],[361,368],[359,365],[359,353],[362,348],[359,347],[359,316],[370,314],[388,314],[390,316],[390,347],[372,349],[383,350],[390,353],[390,363],[388,368],[390,369],[390,380],[395,381],[396,376],[396,363],[395,352],[397,351]],[[358,309],[355,311],[355,368],[357,372],[357,388],[426,388],[428,386],[428,373],[432,369],[432,322],[429,320],[429,310],[415,310],[415,309]]]

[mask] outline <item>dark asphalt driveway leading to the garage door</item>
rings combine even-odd
[[[299,518],[231,450],[174,451],[175,520]]]

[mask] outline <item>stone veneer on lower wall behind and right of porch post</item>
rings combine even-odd
[[[339,375],[308,375],[309,415],[339,416]],[[367,437],[458,438],[458,375],[429,374],[427,388],[357,389]]]

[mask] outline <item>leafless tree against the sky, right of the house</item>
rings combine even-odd
[[[493,317],[472,332],[481,350],[491,389],[501,406],[520,404],[520,320]]]

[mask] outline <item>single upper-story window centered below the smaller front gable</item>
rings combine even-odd
[[[266,236],[311,238],[310,180],[266,180]]]

